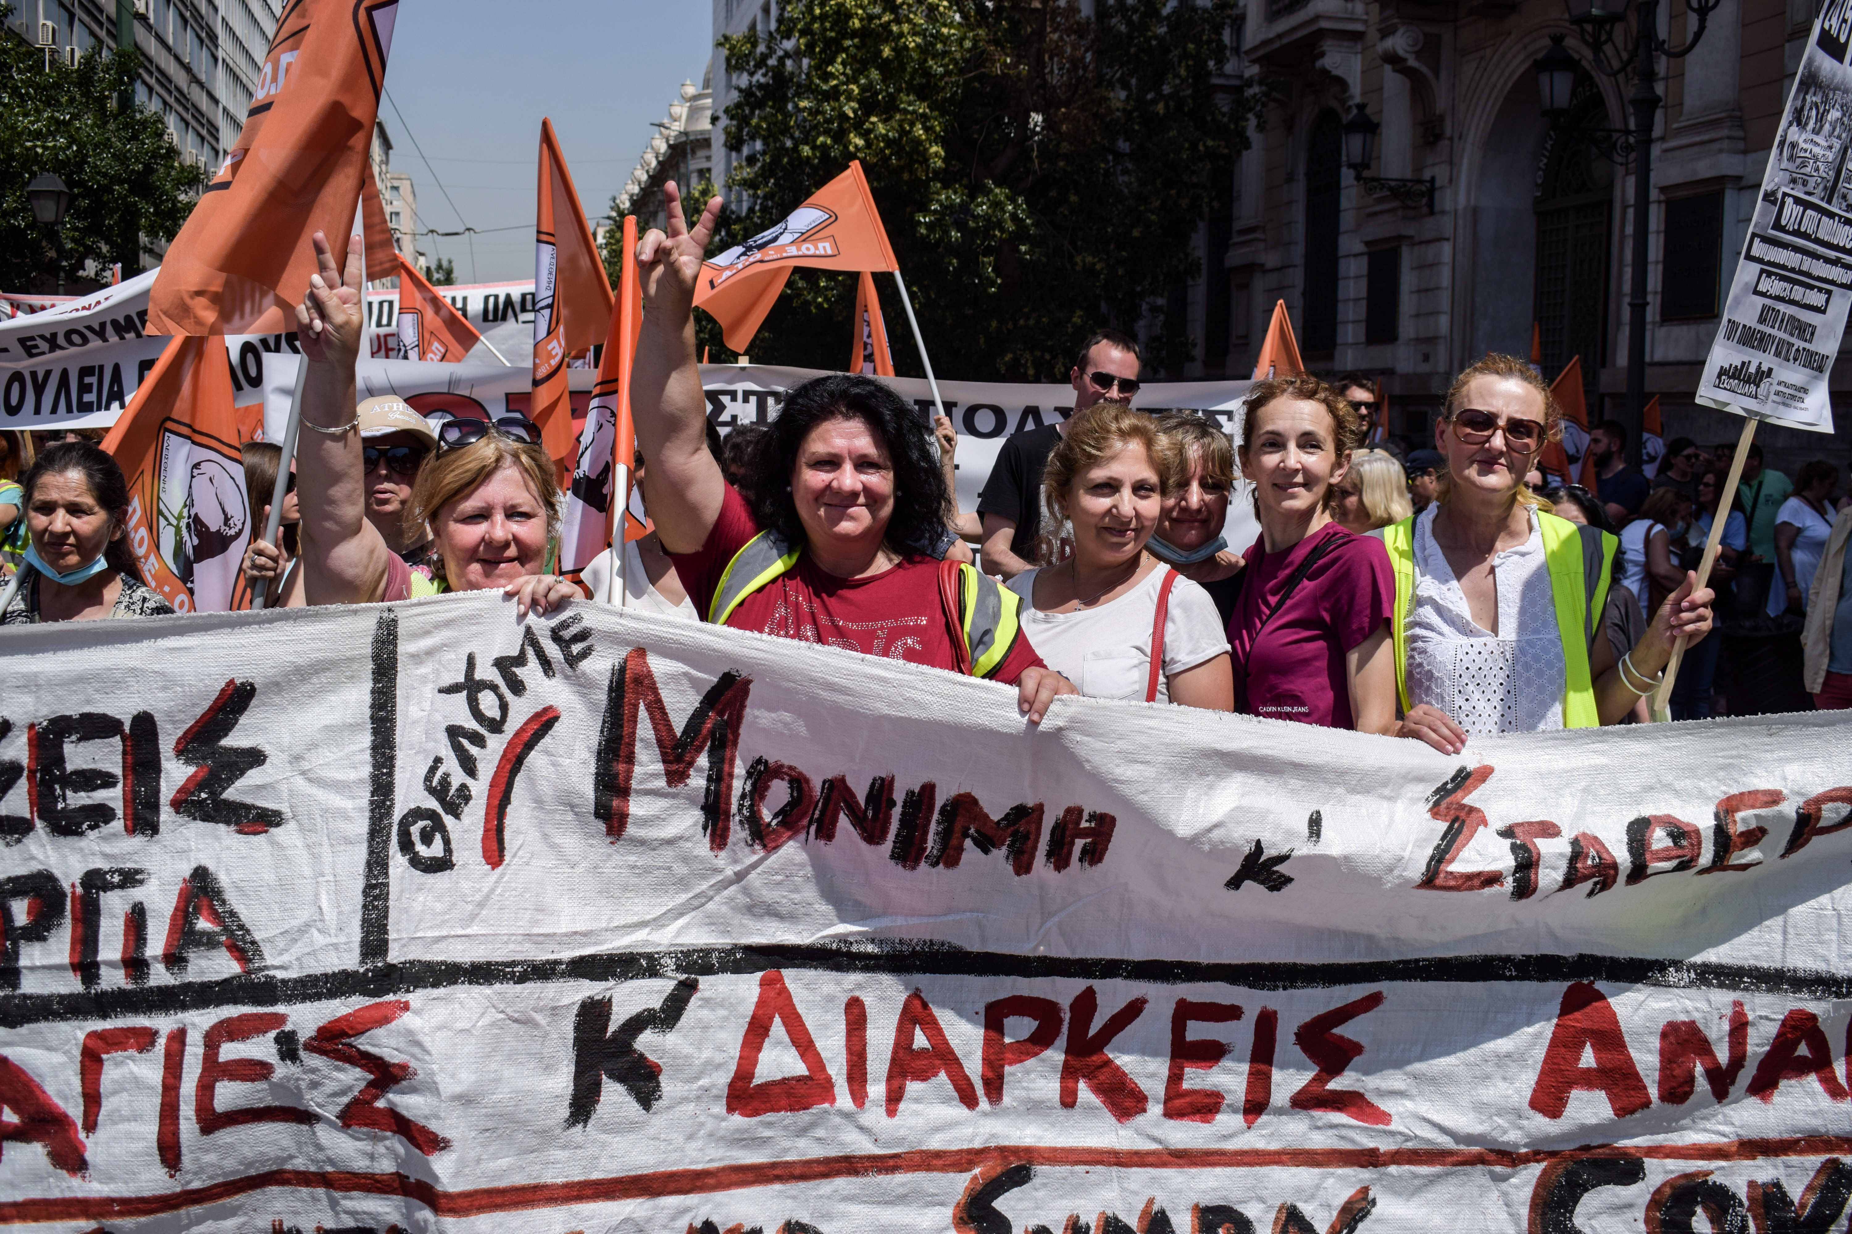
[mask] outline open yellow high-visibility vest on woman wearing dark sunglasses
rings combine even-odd
[[[1556,633],[1563,642],[1563,727],[1593,729],[1602,720],[1595,705],[1595,683],[1589,679],[1589,657],[1602,631],[1609,568],[1620,540],[1546,511],[1537,511],[1537,525],[1550,572]],[[1383,548],[1389,549],[1389,566],[1395,572],[1395,611],[1389,622],[1395,644],[1395,692],[1402,714],[1408,714],[1408,618],[1415,609],[1415,518],[1383,527]]]

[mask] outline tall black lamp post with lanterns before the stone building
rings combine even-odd
[[[1652,222],[1652,122],[1659,111],[1659,57],[1682,59],[1689,56],[1704,37],[1704,28],[1721,0],[1687,0],[1685,20],[1696,19],[1683,44],[1672,46],[1659,37],[1659,0],[1563,0],[1569,20],[1574,24],[1582,43],[1589,48],[1595,67],[1608,78],[1632,74],[1633,93],[1628,105],[1633,109],[1633,130],[1615,133],[1613,130],[1591,130],[1591,135],[1611,137],[1602,142],[1604,154],[1617,163],[1630,155],[1633,165],[1633,274],[1628,285],[1628,344],[1626,344],[1626,414],[1630,463],[1641,463],[1641,413],[1646,407],[1646,241]],[[1628,28],[1628,17],[1633,19]],[[1620,37],[1617,37],[1620,35]],[[1550,50],[1533,63],[1537,70],[1537,93],[1545,117],[1561,122],[1569,111],[1569,91],[1559,87],[1574,85],[1574,63],[1563,48],[1563,35],[1550,35]],[[1561,56],[1558,56],[1561,54]],[[1550,81],[1545,81],[1550,78]]]

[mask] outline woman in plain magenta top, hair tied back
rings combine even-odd
[[[1246,553],[1228,642],[1235,707],[1250,716],[1396,729],[1389,553],[1332,520],[1361,435],[1358,413],[1317,377],[1248,392],[1239,455],[1261,538]]]

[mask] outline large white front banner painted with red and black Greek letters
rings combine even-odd
[[[1845,1228],[1843,712],[1032,729],[498,596],[0,657],[6,1228]]]

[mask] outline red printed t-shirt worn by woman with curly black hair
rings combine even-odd
[[[698,612],[707,612],[728,562],[756,535],[759,524],[745,498],[728,485],[707,542],[693,553],[669,555]],[[939,599],[939,562],[932,557],[913,555],[865,579],[839,579],[819,570],[809,553],[798,553],[793,570],[746,596],[726,623],[778,638],[824,642],[889,660],[957,670],[952,625]],[[1015,685],[1028,668],[1043,668],[1043,662],[1028,635],[1017,631],[989,679]]]

